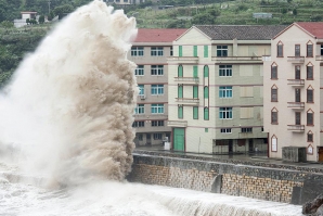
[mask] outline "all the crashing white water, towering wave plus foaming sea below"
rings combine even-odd
[[[0,216],[300,215],[300,206],[122,182],[130,171],[134,18],[67,16],[0,94]]]

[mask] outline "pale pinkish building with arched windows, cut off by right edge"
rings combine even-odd
[[[323,23],[294,23],[271,42],[264,61],[264,131],[270,157],[284,147],[306,148],[323,161]]]

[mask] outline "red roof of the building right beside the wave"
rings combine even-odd
[[[172,42],[186,30],[183,28],[139,28],[134,42]]]

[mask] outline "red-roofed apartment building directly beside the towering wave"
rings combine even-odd
[[[139,29],[128,59],[138,67],[134,111],[135,144],[162,144],[170,138],[168,120],[168,67],[172,41],[186,29]]]

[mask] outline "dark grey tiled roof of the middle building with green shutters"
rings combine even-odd
[[[212,40],[270,40],[286,26],[197,25]]]

